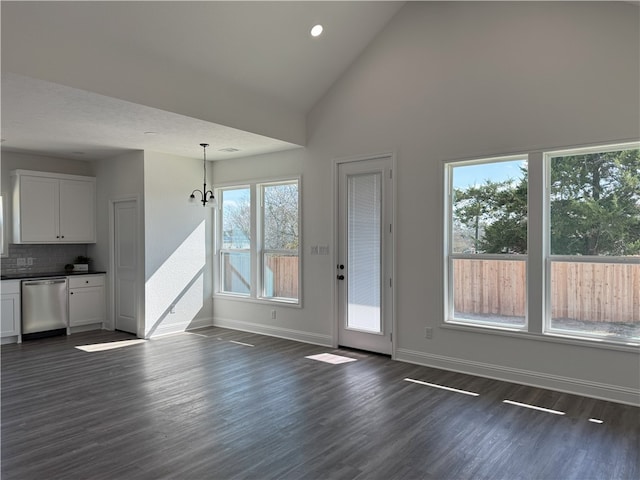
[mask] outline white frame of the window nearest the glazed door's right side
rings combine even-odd
[[[503,330],[510,332],[527,332],[529,329],[529,225],[527,225],[527,254],[502,254],[502,253],[456,253],[453,251],[453,170],[456,167],[484,165],[491,163],[512,162],[524,160],[529,163],[527,154],[503,155],[498,157],[474,158],[472,160],[447,161],[444,163],[445,170],[445,315],[444,323],[447,325],[463,325],[479,327],[483,329]],[[529,194],[527,193],[527,208],[529,204]],[[528,214],[527,214],[528,218]],[[454,261],[455,260],[498,260],[498,261],[522,261],[525,263],[525,283],[524,283],[524,324],[516,326],[513,324],[503,324],[499,322],[481,322],[455,317],[455,291],[454,291]]]

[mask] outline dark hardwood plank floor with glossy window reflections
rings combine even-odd
[[[3,346],[2,479],[640,478],[636,407],[221,328],[195,333],[97,352],[75,347],[133,337]],[[325,352],[357,361],[305,358]]]

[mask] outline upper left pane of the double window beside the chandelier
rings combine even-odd
[[[251,247],[251,191],[249,188],[223,190],[222,248]]]

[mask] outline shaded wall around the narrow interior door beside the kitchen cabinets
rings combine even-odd
[[[111,292],[111,257],[110,257],[110,216],[111,202],[124,198],[137,198],[139,202],[144,202],[144,153],[135,151],[124,153],[113,158],[97,160],[94,162],[96,175],[96,223],[97,241],[90,245],[88,255],[93,259],[95,270],[107,272],[107,322],[105,328],[114,328],[113,317],[113,296]],[[142,211],[142,209],[141,209]],[[144,216],[140,216],[140,229],[144,227]],[[144,239],[141,239],[143,241]],[[140,259],[144,261],[144,259]],[[144,291],[144,279],[142,275],[139,279],[139,292]],[[142,299],[138,306],[139,315],[144,312]]]

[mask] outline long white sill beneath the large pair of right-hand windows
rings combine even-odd
[[[637,345],[625,345],[622,343],[613,343],[601,339],[585,339],[573,336],[560,335],[557,333],[532,333],[516,329],[505,329],[498,327],[485,327],[461,323],[445,322],[440,325],[447,330],[457,330],[463,332],[480,333],[485,335],[500,335],[505,337],[519,338],[524,340],[534,340],[538,342],[560,343],[563,345],[575,345],[579,347],[601,348],[605,350],[614,350],[618,352],[639,353],[640,348]]]

